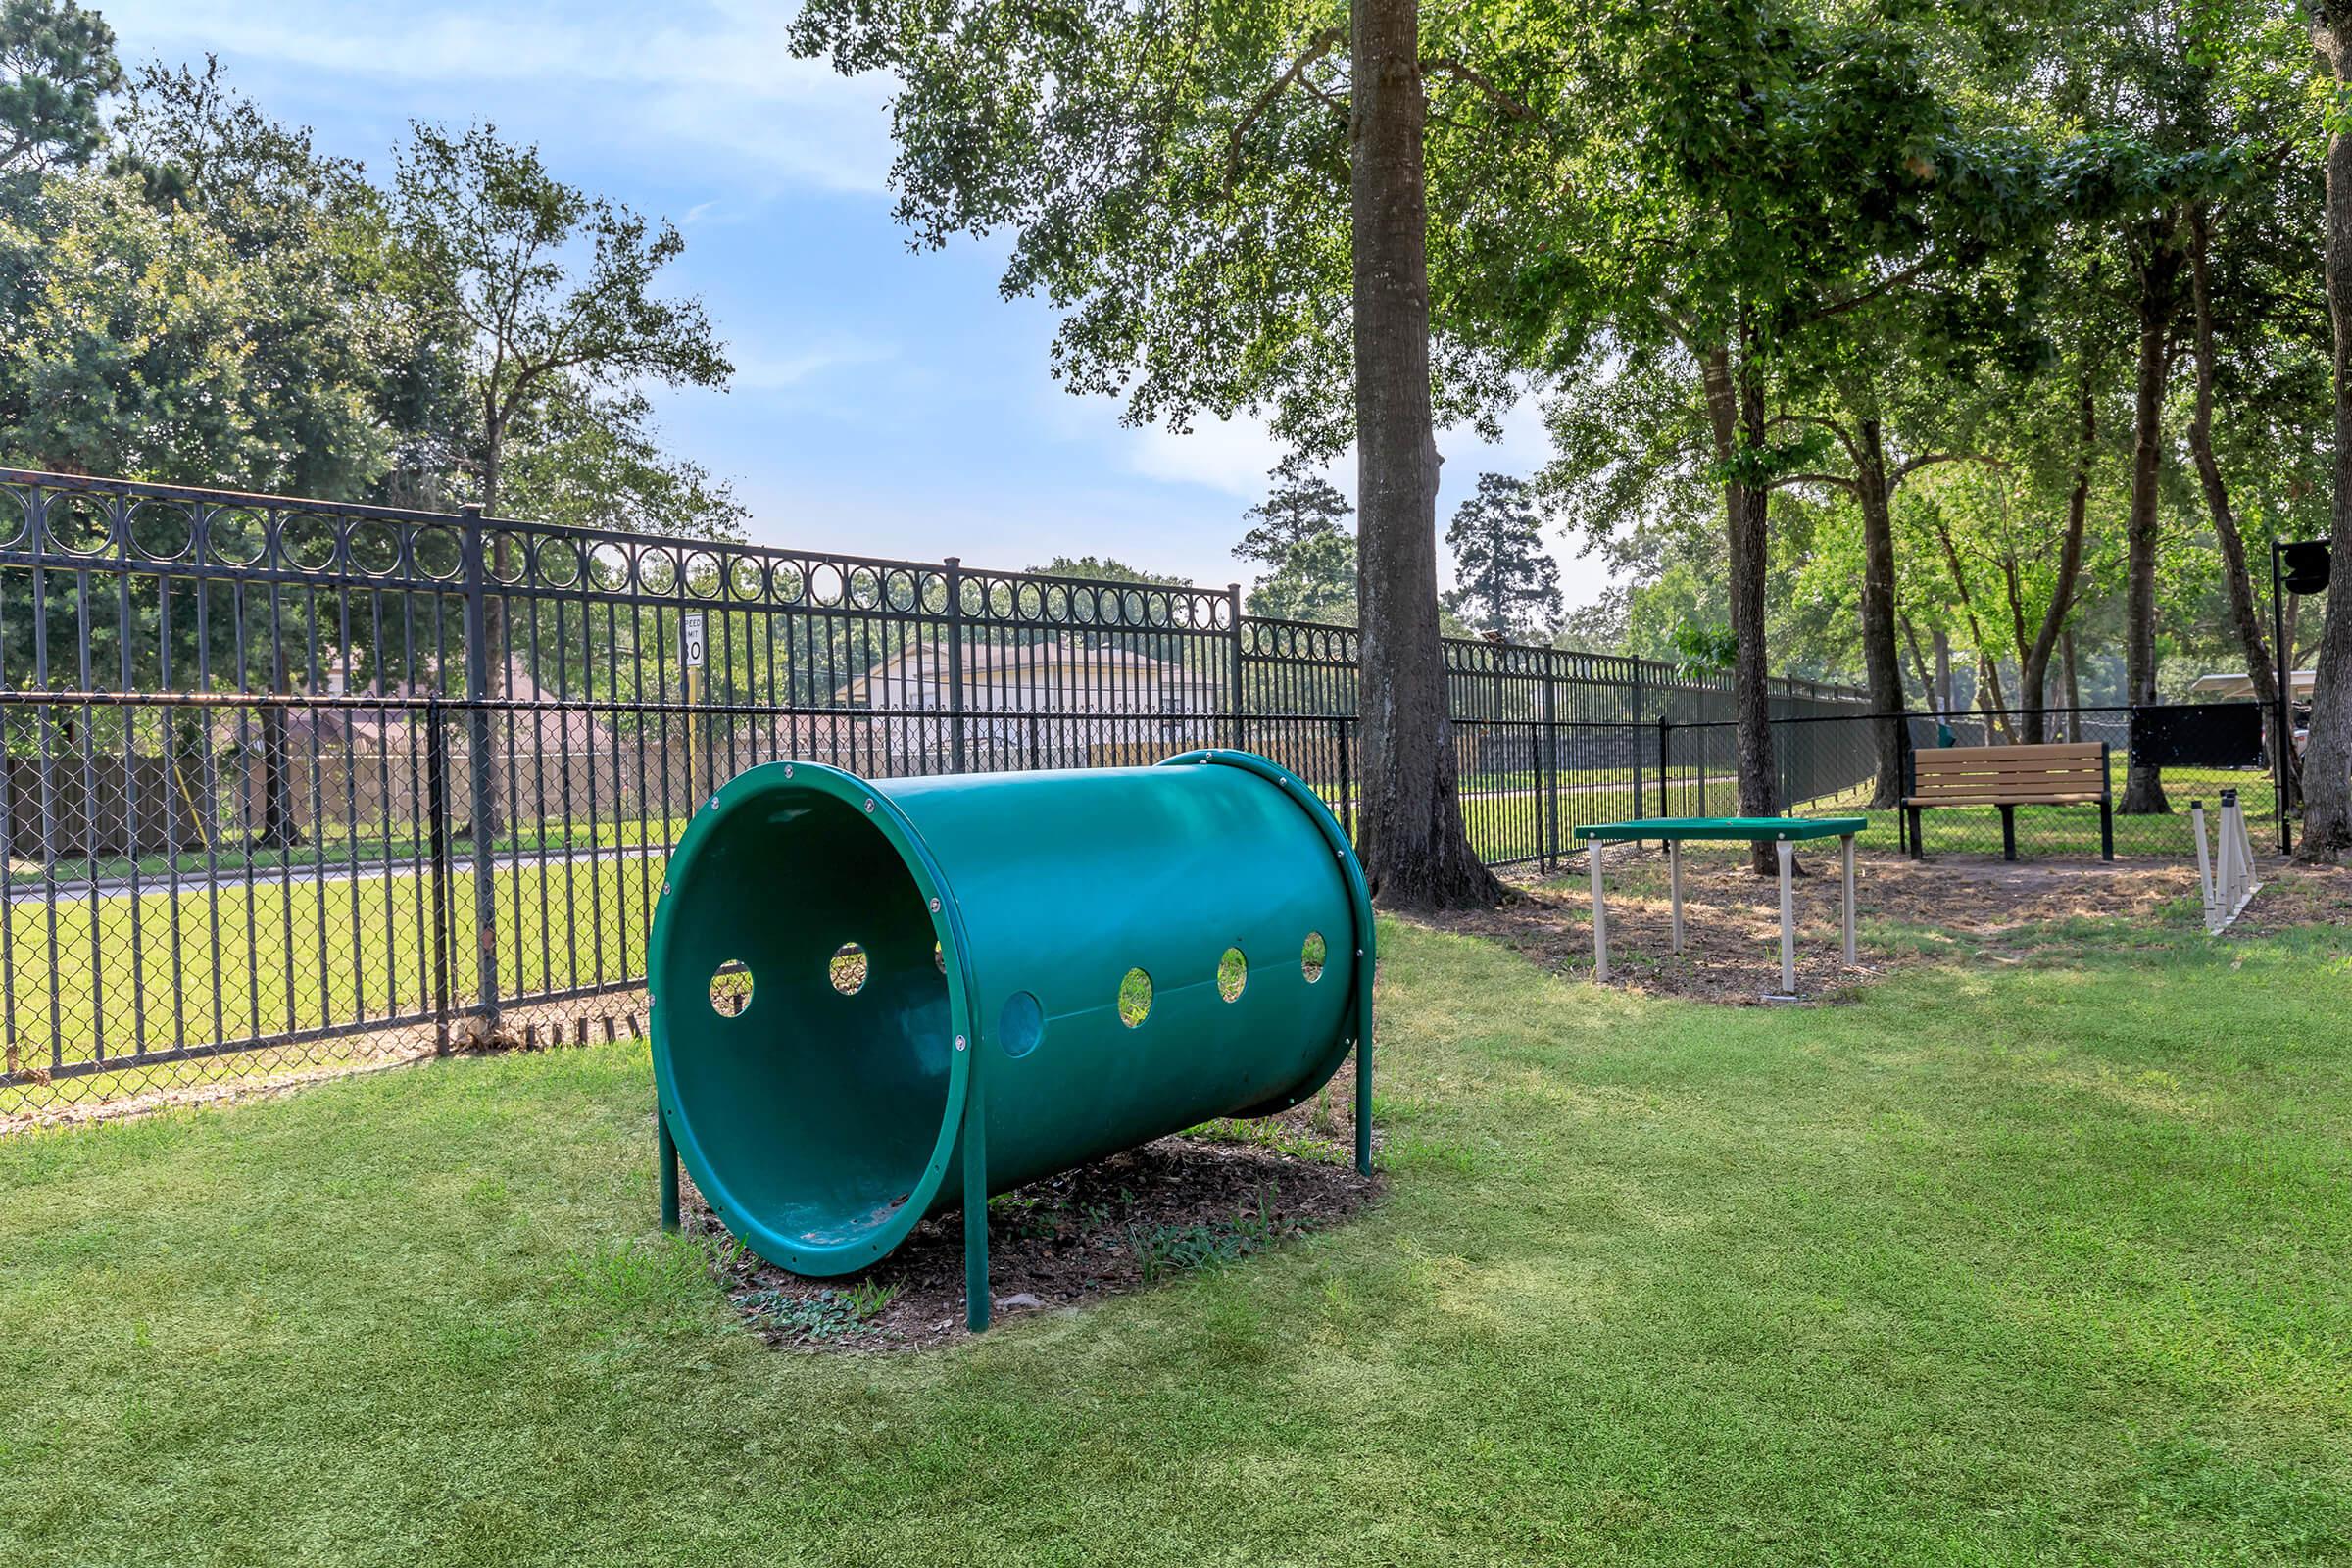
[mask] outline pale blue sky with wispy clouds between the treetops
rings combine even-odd
[[[209,49],[266,110],[372,174],[409,118],[492,120],[560,179],[680,223],[673,282],[703,296],[736,381],[656,395],[663,435],[734,482],[762,543],[983,567],[1091,552],[1247,581],[1230,545],[1279,449],[1247,421],[1131,430],[1117,404],[1063,393],[1051,313],[997,296],[1000,244],[908,252],[889,219],[889,82],[793,59],[790,5],[99,9],[125,66]],[[1531,407],[1498,447],[1468,430],[1439,447],[1439,517],[1479,470],[1531,473],[1545,451]],[[1331,480],[1352,494],[1350,468]],[[1569,602],[1595,597],[1597,562],[1559,555]]]

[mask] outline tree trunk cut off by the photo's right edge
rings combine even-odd
[[[2338,92],[2352,71],[2352,38],[2338,0],[2312,7],[2312,47]],[[2352,555],[2352,134],[2328,134],[2326,284],[2336,324],[2336,505],[2338,555]],[[2338,559],[2343,564],[2343,559]],[[2328,588],[2312,686],[2312,741],[2303,755],[2303,860],[2338,860],[2352,849],[2352,571]]]

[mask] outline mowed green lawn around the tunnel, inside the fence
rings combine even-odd
[[[1383,933],[1392,1194],[946,1352],[741,1331],[642,1046],[0,1140],[0,1561],[2352,1561],[2347,933],[1849,1006]]]

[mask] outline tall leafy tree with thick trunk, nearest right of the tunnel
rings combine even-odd
[[[1454,792],[1435,428],[1515,395],[1470,329],[1503,270],[1446,214],[1541,162],[1522,148],[1550,125],[1559,31],[1519,24],[1411,0],[1143,0],[1049,26],[1021,0],[814,0],[795,24],[802,52],[894,73],[898,216],[917,244],[1011,230],[1002,287],[1063,308],[1073,390],[1174,425],[1263,409],[1317,456],[1355,440],[1359,849],[1388,905],[1501,891]]]

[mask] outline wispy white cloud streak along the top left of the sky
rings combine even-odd
[[[508,85],[588,96],[595,118],[837,190],[880,190],[889,172],[884,75],[842,78],[795,59],[790,12],[675,7],[492,9],[343,0],[113,0],[127,59],[219,52],[233,61],[407,87]],[[496,94],[482,118],[499,118]]]

